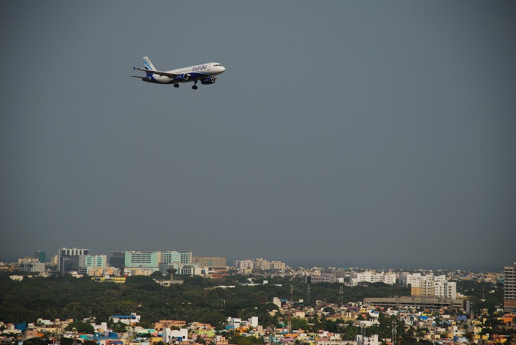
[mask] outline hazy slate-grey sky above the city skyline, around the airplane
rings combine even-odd
[[[511,1],[6,2],[0,259],[502,269],[514,18]],[[143,56],[226,71],[151,85],[129,77]]]

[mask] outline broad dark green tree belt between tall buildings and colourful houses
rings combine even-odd
[[[94,317],[95,322],[107,322],[112,315],[138,313],[141,324],[150,326],[157,320],[186,320],[211,323],[221,329],[228,316],[247,319],[258,316],[260,324],[277,324],[278,318],[268,311],[278,309],[273,297],[289,298],[294,286],[294,299],[303,299],[299,307],[308,304],[307,285],[288,277],[261,277],[269,284],[241,286],[248,276],[236,275],[221,280],[203,277],[183,277],[184,284],[163,287],[147,276],[128,277],[125,284],[94,282],[90,278],[71,275],[34,277],[12,281],[8,273],[0,273],[0,320],[5,322],[36,322],[43,319],[74,319]],[[273,284],[281,284],[276,286]],[[214,288],[235,285],[234,288]],[[342,284],[312,284],[310,300],[338,303]],[[345,287],[345,301],[361,301],[364,297],[407,295],[406,287],[383,283],[366,287]],[[221,301],[225,304],[222,306]],[[77,328],[77,327],[76,327]],[[88,333],[88,332],[85,332]]]

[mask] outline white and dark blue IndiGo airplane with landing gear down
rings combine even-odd
[[[225,71],[225,68],[218,62],[203,63],[165,72],[156,70],[147,56],[143,58],[143,64],[145,69],[133,67],[133,71],[143,71],[146,76],[132,75],[132,77],[140,78],[147,83],[174,84],[174,88],[179,88],[179,83],[193,81],[193,90],[197,90],[198,81],[201,81],[202,85],[215,83],[218,78],[216,75]]]

